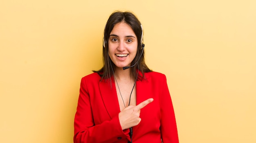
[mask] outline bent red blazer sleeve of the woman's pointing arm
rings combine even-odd
[[[110,121],[94,125],[90,95],[82,78],[74,119],[74,143],[106,143],[126,139],[129,130],[122,130],[118,115]],[[127,142],[127,140],[126,140]]]

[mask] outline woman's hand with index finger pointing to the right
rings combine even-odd
[[[153,98],[149,98],[139,103],[137,106],[130,105],[121,111],[119,113],[119,122],[122,130],[138,125],[141,121],[141,118],[139,118],[140,109],[144,108],[151,102],[153,102]]]

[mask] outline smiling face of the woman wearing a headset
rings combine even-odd
[[[116,67],[127,67],[137,53],[137,36],[125,22],[117,23],[108,39],[108,54]]]

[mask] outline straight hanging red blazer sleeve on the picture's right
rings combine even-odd
[[[177,125],[166,76],[162,79],[162,93],[160,94],[161,125],[160,131],[163,143],[179,143]]]

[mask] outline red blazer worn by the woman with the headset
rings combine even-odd
[[[154,101],[141,109],[141,122],[132,127],[132,143],[179,143],[166,76],[148,72],[145,77],[136,81],[137,105],[148,98]],[[122,130],[119,123],[115,80],[112,87],[108,80],[100,80],[97,73],[81,80],[74,143],[128,143],[130,131]]]

